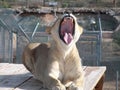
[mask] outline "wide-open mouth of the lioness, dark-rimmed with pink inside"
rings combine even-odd
[[[70,15],[63,17],[59,26],[59,36],[65,44],[70,44],[73,40],[74,28],[75,22],[73,17]]]

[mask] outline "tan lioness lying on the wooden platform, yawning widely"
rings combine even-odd
[[[76,17],[63,15],[47,32],[53,40],[27,45],[24,65],[49,90],[83,90],[84,73],[76,48],[83,29]]]

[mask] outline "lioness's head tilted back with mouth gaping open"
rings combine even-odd
[[[73,14],[64,14],[48,32],[58,44],[68,47],[78,41],[83,29]]]

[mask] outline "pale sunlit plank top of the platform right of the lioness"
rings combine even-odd
[[[84,90],[93,90],[104,75],[105,70],[106,67],[87,67],[85,69]]]

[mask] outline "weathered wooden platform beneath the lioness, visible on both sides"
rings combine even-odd
[[[84,90],[102,90],[106,67],[84,66]],[[0,63],[0,90],[48,90],[22,64]]]

